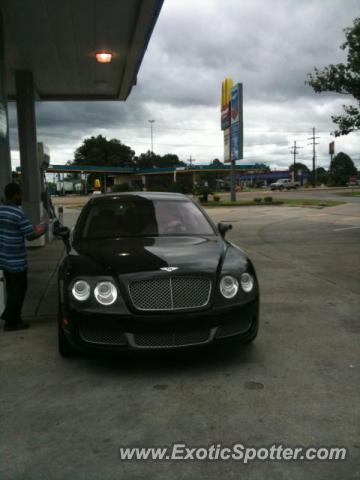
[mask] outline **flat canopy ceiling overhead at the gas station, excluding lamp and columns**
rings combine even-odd
[[[126,100],[163,0],[0,0],[9,99],[32,71],[37,100]],[[110,63],[96,53],[112,54]]]

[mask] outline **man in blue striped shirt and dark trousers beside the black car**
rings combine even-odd
[[[1,318],[8,332],[30,326],[21,319],[27,289],[25,239],[39,238],[46,232],[47,223],[33,227],[20,206],[22,195],[17,183],[6,185],[4,194],[6,201],[0,205],[0,270],[5,276],[6,306]]]

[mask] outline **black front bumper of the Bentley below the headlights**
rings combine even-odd
[[[68,311],[60,317],[68,341],[83,352],[176,349],[235,337],[247,341],[258,329],[259,300],[196,313],[119,316]]]

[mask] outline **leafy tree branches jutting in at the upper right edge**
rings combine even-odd
[[[343,105],[344,115],[331,117],[338,126],[334,132],[336,137],[360,129],[360,17],[355,18],[353,26],[344,32],[346,42],[340,48],[348,49],[347,62],[330,64],[323,70],[315,68],[306,81],[316,93],[337,92],[352,95],[357,101],[358,106]]]

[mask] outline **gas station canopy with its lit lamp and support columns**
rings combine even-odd
[[[8,101],[17,108],[23,207],[43,214],[36,101],[121,100],[137,74],[163,0],[0,0],[0,192],[11,181]]]

